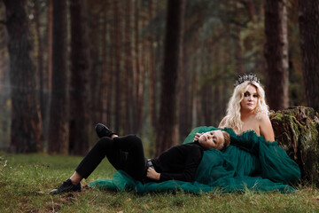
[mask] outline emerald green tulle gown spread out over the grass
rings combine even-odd
[[[217,130],[214,127],[198,127],[185,138],[192,142],[197,132]],[[230,146],[224,151],[207,150],[198,166],[195,182],[169,180],[162,183],[143,184],[122,170],[112,179],[97,179],[89,186],[117,191],[133,190],[136,193],[183,190],[191,193],[222,193],[279,191],[292,193],[291,185],[300,181],[300,169],[296,162],[277,146],[258,137],[254,131],[237,135],[231,129]]]

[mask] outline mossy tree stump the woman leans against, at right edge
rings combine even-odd
[[[301,179],[319,185],[319,115],[313,108],[293,106],[271,112],[278,146],[300,166]]]

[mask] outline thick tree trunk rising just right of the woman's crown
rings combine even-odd
[[[289,106],[288,36],[286,0],[266,0],[266,96],[270,109]]]

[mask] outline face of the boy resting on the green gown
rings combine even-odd
[[[198,143],[204,149],[220,149],[224,143],[222,130],[212,130],[204,133],[198,138]]]

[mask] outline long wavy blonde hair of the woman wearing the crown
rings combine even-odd
[[[250,85],[256,87],[258,94],[258,102],[254,110],[256,118],[260,119],[261,114],[268,115],[269,107],[266,104],[265,91],[262,89],[261,84],[256,83],[255,81],[245,81],[244,83],[241,83],[235,87],[228,104],[226,116],[222,119],[222,123],[220,124],[219,128],[229,127],[233,130],[242,130],[243,122],[241,121],[240,102],[244,99],[244,93],[248,90]]]

